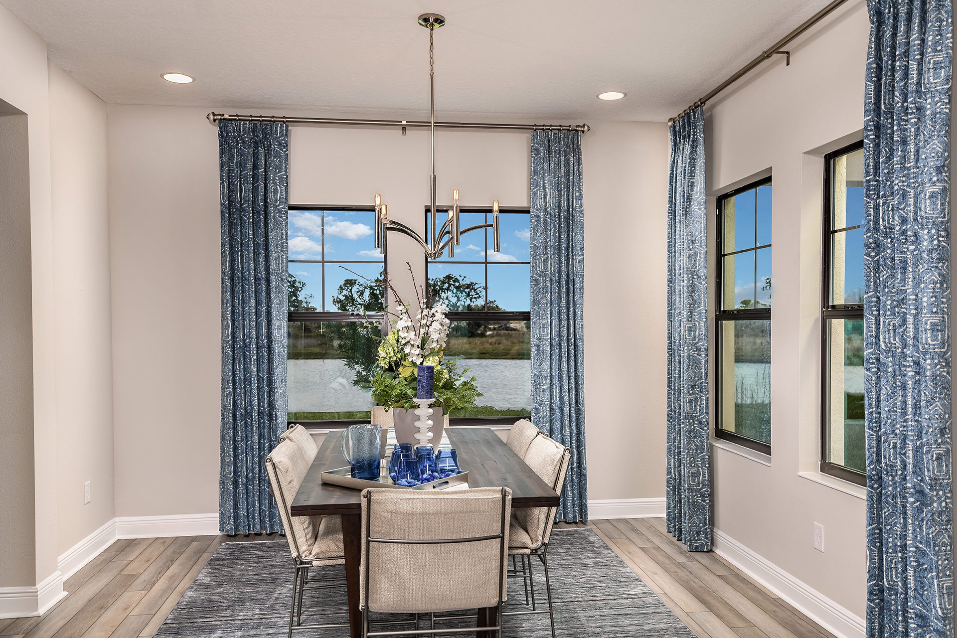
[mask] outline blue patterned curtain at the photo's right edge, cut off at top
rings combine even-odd
[[[950,0],[870,0],[867,635],[953,635]]]

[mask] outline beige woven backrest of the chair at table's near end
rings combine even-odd
[[[360,601],[370,611],[493,607],[505,600],[512,493],[362,493]]]

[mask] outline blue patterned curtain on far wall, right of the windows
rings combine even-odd
[[[582,134],[532,131],[532,423],[571,449],[556,520],[588,520]]]

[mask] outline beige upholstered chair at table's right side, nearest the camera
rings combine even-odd
[[[536,430],[537,431],[537,430]],[[538,474],[555,492],[562,494],[565,476],[568,473],[568,461],[571,451],[554,439],[539,432],[532,439],[525,452],[524,460],[531,470]],[[548,577],[548,540],[555,526],[555,507],[533,507],[515,510],[508,532],[508,553],[512,556],[513,569],[509,578],[520,578],[525,585],[525,605],[531,594],[530,611],[508,611],[506,616],[518,614],[546,613],[539,610],[535,602],[535,583],[532,579],[531,557],[537,557],[545,568],[545,592],[548,596],[548,618],[551,622],[551,635],[555,638],[555,611],[551,601],[551,581]],[[516,567],[515,559],[522,563]]]

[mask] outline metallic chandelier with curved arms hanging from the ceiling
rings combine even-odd
[[[426,255],[430,259],[436,259],[448,248],[449,256],[455,256],[456,246],[460,238],[466,232],[479,231],[480,229],[492,229],[492,250],[499,252],[499,200],[492,201],[492,223],[470,226],[467,229],[459,227],[459,209],[458,209],[458,188],[452,190],[452,208],[448,210],[448,218],[437,227],[438,211],[435,209],[435,58],[434,58],[434,32],[439,27],[445,25],[445,18],[437,13],[423,13],[418,17],[418,23],[429,30],[429,111],[430,111],[430,135],[432,138],[432,174],[429,176],[429,213],[431,216],[431,235],[422,237],[418,232],[402,222],[389,219],[389,207],[383,203],[382,195],[375,194],[375,247],[380,253],[385,253],[388,239],[386,237],[389,231],[398,231],[409,235],[422,245]]]

